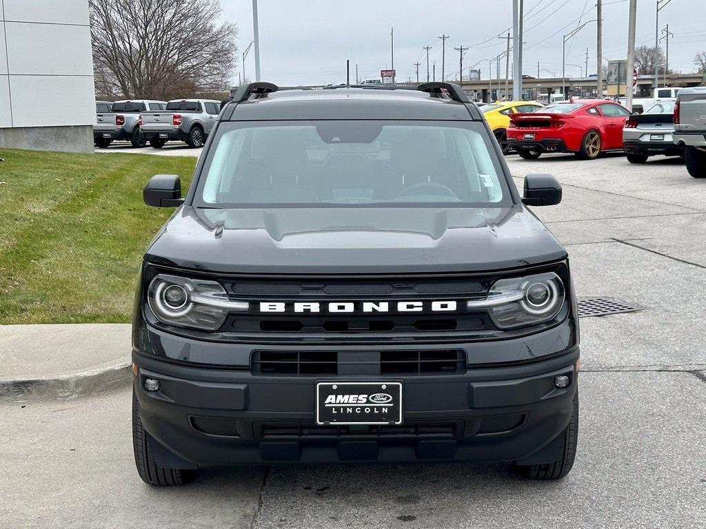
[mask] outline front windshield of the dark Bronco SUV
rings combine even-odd
[[[510,204],[481,123],[222,123],[195,205]]]

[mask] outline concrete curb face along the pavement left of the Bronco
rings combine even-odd
[[[0,399],[21,400],[30,396],[76,399],[116,387],[126,387],[131,382],[131,363],[124,362],[61,377],[0,380]]]

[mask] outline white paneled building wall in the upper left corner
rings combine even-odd
[[[94,93],[88,0],[0,0],[0,128],[92,126]]]

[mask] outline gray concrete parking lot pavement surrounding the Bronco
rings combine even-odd
[[[172,151],[198,154],[160,154]],[[136,474],[121,388],[0,401],[0,425],[13,425],[0,428],[0,527],[705,528],[706,181],[659,157],[508,163],[518,187],[528,173],[561,181],[561,205],[535,212],[566,245],[578,296],[640,309],[581,320],[566,479],[525,481],[508,465],[273,466],[157,490]]]

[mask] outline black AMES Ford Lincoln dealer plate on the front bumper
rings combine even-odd
[[[401,423],[402,382],[316,383],[316,424]]]

